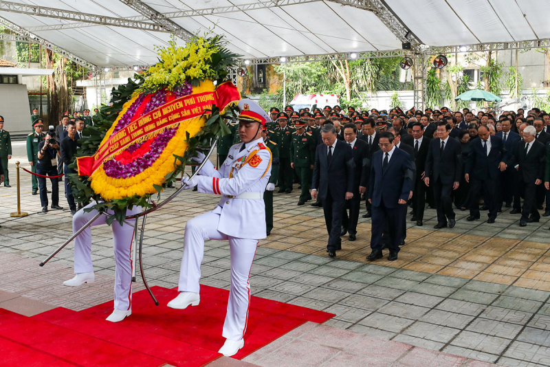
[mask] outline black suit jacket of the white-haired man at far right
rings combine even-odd
[[[507,164],[512,167],[518,164],[520,179],[525,183],[534,184],[537,179],[544,179],[545,159],[546,149],[544,148],[544,144],[534,140],[529,153],[525,155],[525,140],[520,140],[516,146],[514,155],[511,156]]]

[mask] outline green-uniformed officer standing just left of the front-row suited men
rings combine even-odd
[[[309,119],[308,119],[309,120]],[[291,166],[296,170],[300,177],[302,193],[298,199],[298,205],[304,205],[306,201],[311,200],[309,188],[311,187],[311,173],[315,163],[315,149],[317,144],[311,133],[305,132],[306,120],[294,122],[296,131],[292,133],[292,157]]]

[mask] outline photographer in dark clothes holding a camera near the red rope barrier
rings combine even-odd
[[[59,154],[59,144],[56,142],[54,131],[48,131],[45,140],[39,144],[39,161],[36,163],[36,173],[45,176],[57,176],[57,161],[61,159]],[[47,192],[45,177],[38,177],[40,188],[40,202],[42,212],[47,212]],[[52,209],[63,209],[59,206],[59,186],[58,179],[50,178],[52,181]]]

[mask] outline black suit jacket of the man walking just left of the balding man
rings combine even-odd
[[[460,142],[452,137],[448,137],[447,144],[443,150],[443,156],[440,151],[441,139],[437,137],[430,142],[428,148],[428,157],[426,158],[426,177],[431,181],[437,181],[452,184],[460,181],[462,176],[462,149]]]

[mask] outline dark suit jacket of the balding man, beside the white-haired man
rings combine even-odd
[[[503,162],[506,156],[506,148],[503,140],[498,136],[490,136],[491,151],[483,148],[483,140],[474,139],[470,143],[470,153],[466,159],[465,173],[470,175],[471,179],[498,179],[500,170],[498,164]]]

